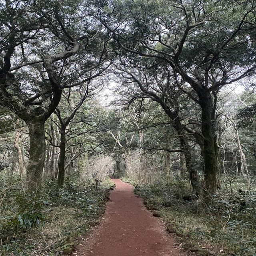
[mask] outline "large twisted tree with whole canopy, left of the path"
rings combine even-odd
[[[81,4],[86,11],[80,9]],[[85,74],[105,60],[104,40],[92,51],[101,30],[90,10],[90,4],[84,1],[6,0],[0,5],[0,50],[4,56],[0,104],[28,126],[26,181],[32,191],[41,186],[46,151],[44,123],[58,106],[62,90],[86,82]]]

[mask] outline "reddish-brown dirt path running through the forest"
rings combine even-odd
[[[159,218],[144,208],[134,195],[133,186],[112,180],[110,195],[101,224],[80,245],[77,256],[185,256],[178,241],[165,231]],[[81,242],[82,243],[82,242]]]

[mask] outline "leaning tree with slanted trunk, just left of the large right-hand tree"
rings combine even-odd
[[[122,66],[123,64],[123,66]],[[198,144],[202,145],[202,138],[198,135],[198,132],[193,130],[191,127],[186,125],[184,118],[180,113],[180,101],[181,94],[175,83],[173,83],[172,76],[170,74],[170,69],[166,65],[161,63],[150,63],[150,66],[141,66],[140,63],[136,62],[136,59],[128,59],[126,57],[126,62],[122,62],[118,69],[124,71],[123,74],[124,85],[130,85],[134,82],[135,86],[138,86],[130,92],[130,97],[132,100],[135,98],[151,98],[156,101],[164,110],[166,115],[172,121],[172,126],[176,131],[178,140],[180,142],[180,149],[169,150],[172,152],[184,152],[186,167],[189,173],[190,181],[192,187],[197,195],[200,194],[201,186],[198,179],[198,173],[196,166],[192,160],[191,146],[186,135],[186,131],[193,134]],[[129,86],[128,86],[129,92]],[[126,95],[129,95],[126,93]],[[168,146],[167,146],[168,148]]]

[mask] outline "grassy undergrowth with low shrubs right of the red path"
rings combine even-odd
[[[129,182],[127,179],[123,179]],[[167,230],[183,238],[182,245],[198,255],[256,255],[256,190],[237,178],[207,200],[193,199],[188,181],[136,184],[134,192],[167,223]],[[223,182],[224,183],[224,182]]]

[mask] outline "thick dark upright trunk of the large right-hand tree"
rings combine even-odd
[[[215,192],[217,187],[217,143],[215,110],[213,99],[208,90],[202,90],[199,95],[202,109],[202,135],[203,135],[203,157],[204,157],[204,188],[208,192]]]

